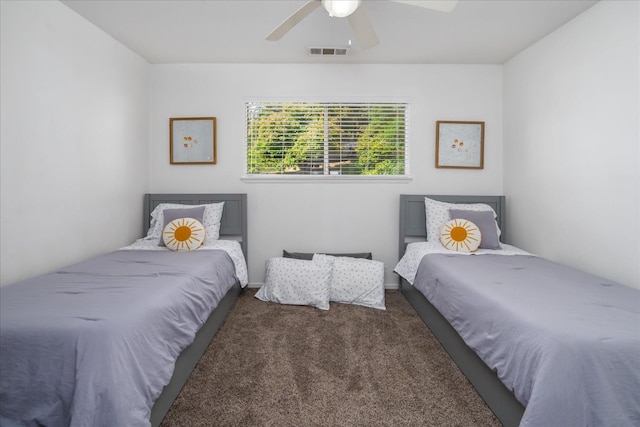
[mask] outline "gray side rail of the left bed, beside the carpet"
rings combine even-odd
[[[185,348],[178,357],[178,360],[176,360],[171,381],[165,386],[160,397],[158,397],[151,409],[150,420],[153,427],[159,426],[164,419],[164,416],[169,411],[169,408],[171,408],[174,400],[178,397],[178,394],[180,394],[182,387],[191,376],[191,372],[198,364],[198,361],[209,346],[216,332],[218,332],[218,329],[220,329],[220,326],[222,326],[224,319],[227,317],[227,314],[229,314],[229,311],[231,311],[241,292],[242,288],[240,283],[236,282],[222,300],[220,300],[216,309],[211,312],[211,315],[202,328],[196,333],[193,343]]]

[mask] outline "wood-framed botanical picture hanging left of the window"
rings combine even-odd
[[[169,119],[169,162],[172,165],[215,165],[216,118]]]

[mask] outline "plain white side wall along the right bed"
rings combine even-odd
[[[639,3],[596,4],[504,66],[513,242],[640,287]]]

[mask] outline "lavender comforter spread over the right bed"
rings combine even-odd
[[[521,426],[640,425],[640,291],[518,255],[426,255],[414,286],[526,406]]]

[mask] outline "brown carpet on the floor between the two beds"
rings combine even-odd
[[[499,426],[398,291],[386,311],[244,292],[162,427]]]

